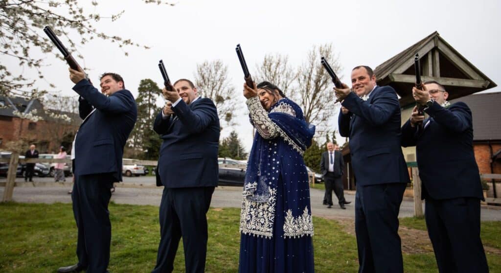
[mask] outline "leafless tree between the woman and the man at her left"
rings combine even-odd
[[[238,98],[228,79],[228,67],[221,60],[205,61],[196,66],[195,86],[204,97],[210,98],[217,107],[219,120],[233,125],[233,114]]]

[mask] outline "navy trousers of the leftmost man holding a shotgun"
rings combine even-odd
[[[73,214],[78,227],[78,263],[86,272],[105,272],[110,262],[111,223],[108,204],[113,179],[108,174],[76,175]]]

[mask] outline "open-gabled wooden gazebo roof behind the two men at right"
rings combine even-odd
[[[497,86],[434,32],[374,70],[378,85],[392,86],[401,97],[401,106],[414,103],[416,53],[420,56],[422,81],[434,80],[445,86],[449,100]]]

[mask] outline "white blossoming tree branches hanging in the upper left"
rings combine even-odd
[[[159,0],[142,0],[144,3],[168,4]],[[92,1],[97,6],[97,1]],[[94,24],[103,19],[115,21],[123,11],[116,15],[104,16],[99,13],[86,13],[79,0],[65,1],[27,1],[27,0],[0,0],[0,96],[26,98],[41,98],[48,91],[40,90],[37,81],[44,79],[40,68],[44,65],[44,59],[35,58],[32,54],[35,50],[50,53],[62,59],[52,42],[45,36],[42,29],[50,26],[68,50],[75,55],[76,44],[85,45],[90,40],[99,38],[108,40],[118,45],[120,49],[128,46],[144,47],[130,39],[124,39],[113,34],[99,32]],[[80,34],[79,38],[67,39],[70,31]],[[124,54],[128,53],[124,50]],[[82,58],[78,53],[75,57]],[[18,66],[16,68],[6,65],[9,58],[18,62],[10,62]],[[15,74],[13,71],[34,69],[38,71],[36,79],[29,79],[23,72]],[[51,88],[55,86],[50,84]]]

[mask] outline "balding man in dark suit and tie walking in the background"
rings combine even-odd
[[[332,207],[332,190],[334,190],[338,197],[339,206],[346,209],[345,204],[351,202],[344,198],[343,181],[341,180],[344,173],[344,160],[341,152],[336,151],[335,148],[334,143],[327,143],[327,151],[322,153],[320,160],[320,171],[324,176],[325,183],[324,205],[328,205],[328,208]]]

